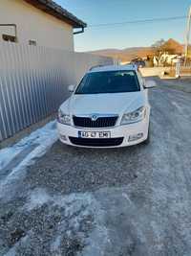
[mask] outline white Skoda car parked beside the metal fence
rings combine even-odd
[[[61,142],[77,147],[126,147],[149,140],[150,105],[134,65],[92,68],[58,110]]]

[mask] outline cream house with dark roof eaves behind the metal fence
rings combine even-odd
[[[52,0],[1,0],[0,42],[74,51],[74,29],[86,23]]]

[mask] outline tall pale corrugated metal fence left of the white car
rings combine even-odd
[[[0,44],[0,141],[53,114],[69,84],[112,58],[43,47]]]

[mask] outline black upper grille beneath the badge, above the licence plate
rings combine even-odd
[[[117,116],[98,117],[92,121],[91,117],[74,116],[74,126],[78,128],[111,128],[117,123]]]

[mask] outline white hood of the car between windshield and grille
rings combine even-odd
[[[134,111],[144,105],[142,91],[131,93],[110,94],[73,94],[61,109],[72,115],[87,114],[120,114],[124,111]]]

